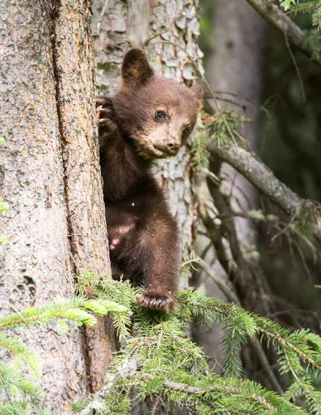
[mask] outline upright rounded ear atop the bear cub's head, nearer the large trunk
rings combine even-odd
[[[138,48],[129,49],[122,61],[122,80],[127,86],[144,84],[154,74],[147,56]]]

